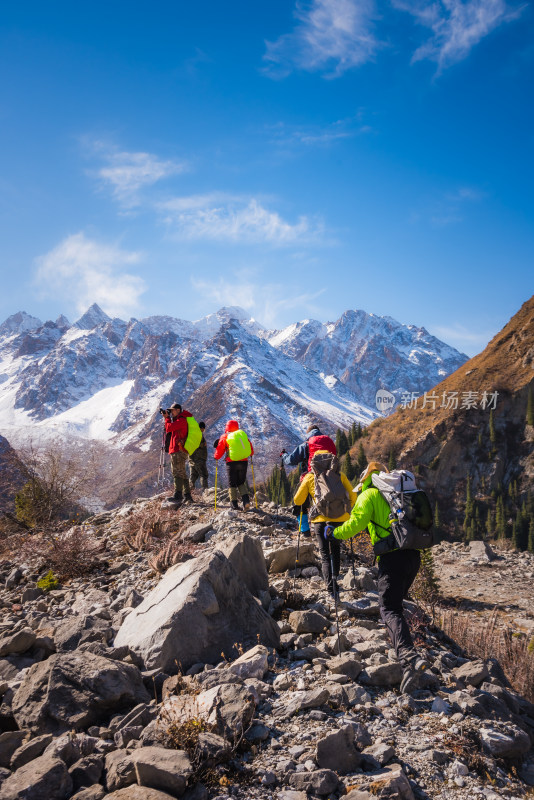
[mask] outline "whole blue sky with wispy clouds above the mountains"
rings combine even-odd
[[[514,0],[4,3],[0,317],[347,308],[472,355],[534,291]]]

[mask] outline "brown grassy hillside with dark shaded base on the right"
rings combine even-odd
[[[398,466],[418,472],[439,502],[442,521],[450,531],[459,532],[462,524],[469,476],[470,491],[479,506],[477,533],[495,532],[488,530],[486,515],[490,511],[489,528],[495,526],[498,520],[491,520],[491,513],[495,514],[503,497],[505,515],[509,514],[506,535],[511,536],[508,519],[515,517],[523,502],[529,502],[534,490],[534,429],[527,424],[533,386],[531,297],[482,353],[428,393],[424,407],[419,397],[417,407],[398,408],[371,424],[362,439],[365,454],[386,464],[393,458]],[[446,407],[454,396],[458,408]],[[429,397],[435,400],[429,402]],[[474,407],[462,408],[470,399]],[[353,448],[353,457],[357,451],[358,446]]]

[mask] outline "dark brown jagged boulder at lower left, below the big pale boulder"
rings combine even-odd
[[[13,698],[13,715],[21,728],[58,734],[149,702],[137,667],[93,653],[58,653],[27,672]]]

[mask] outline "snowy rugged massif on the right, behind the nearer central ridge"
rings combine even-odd
[[[378,389],[400,399],[403,392],[429,389],[467,361],[425,328],[365,311],[345,311],[337,322],[297,322],[269,332],[268,341],[304,366],[334,375],[371,406]]]

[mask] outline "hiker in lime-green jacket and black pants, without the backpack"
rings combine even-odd
[[[391,534],[391,509],[372,484],[374,474],[388,471],[378,461],[368,464],[360,476],[361,493],[350,519],[331,532],[335,539],[350,539],[367,528],[374,547]],[[377,556],[377,561],[380,616],[403,666],[401,691],[410,692],[419,688],[421,675],[428,667],[425,659],[417,655],[402,605],[419,571],[421,553],[419,550],[392,550]]]

